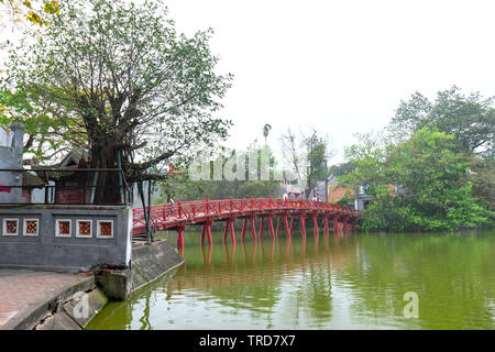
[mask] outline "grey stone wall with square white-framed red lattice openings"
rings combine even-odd
[[[76,270],[102,264],[128,266],[131,215],[132,209],[122,207],[0,206],[0,266]],[[14,220],[16,234],[9,232]],[[57,220],[70,223],[69,235],[57,234]],[[26,233],[30,224],[33,232],[33,221],[37,223],[37,234]],[[78,221],[91,224],[90,235],[78,237]],[[111,237],[99,233],[100,226],[105,226],[101,222],[112,223]]]

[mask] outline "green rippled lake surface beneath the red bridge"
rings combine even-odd
[[[172,277],[87,329],[495,329],[495,231],[185,237]]]

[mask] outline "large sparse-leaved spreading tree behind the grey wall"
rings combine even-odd
[[[78,145],[91,167],[164,179],[227,136],[215,113],[231,75],[216,73],[211,33],[178,34],[161,1],[65,1],[42,41],[12,53],[3,97],[23,103],[4,116],[40,119],[31,144],[45,154]]]

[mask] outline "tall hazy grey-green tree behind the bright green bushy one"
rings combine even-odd
[[[458,145],[471,154],[474,194],[490,209],[495,209],[495,107],[494,98],[479,92],[465,95],[458,87],[439,91],[435,101],[419,92],[402,101],[388,130],[409,138],[422,128],[454,135]]]

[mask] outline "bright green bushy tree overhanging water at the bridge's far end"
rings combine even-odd
[[[340,182],[369,185],[374,197],[364,211],[365,229],[453,230],[493,217],[473,196],[469,154],[454,135],[424,128],[397,144],[367,135],[346,156],[355,169]]]

